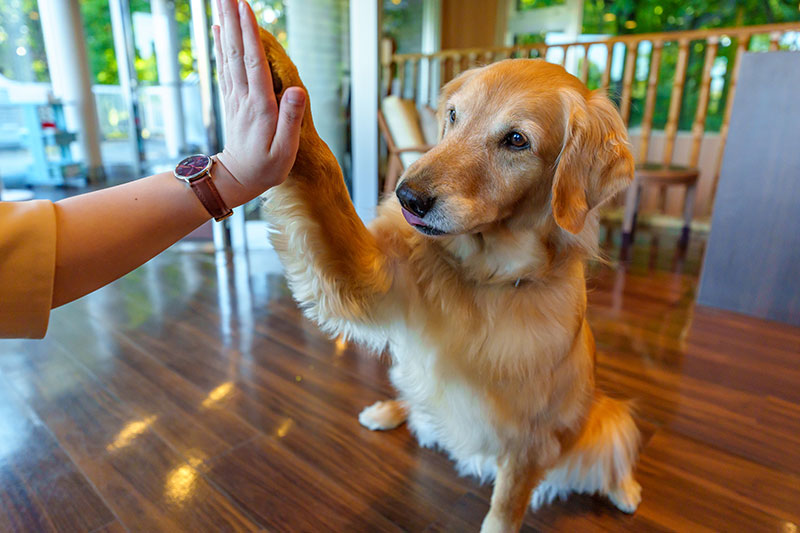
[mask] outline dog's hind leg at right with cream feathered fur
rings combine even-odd
[[[570,492],[599,492],[621,510],[633,512],[639,503],[639,487],[632,474],[640,436],[631,411],[631,402],[598,394],[577,440],[547,472],[531,505],[536,509]],[[635,502],[620,502],[621,490],[634,491]]]

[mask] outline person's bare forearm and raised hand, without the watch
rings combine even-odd
[[[212,168],[229,207],[281,183],[294,164],[305,92],[278,109],[250,7],[221,0],[214,28],[226,146]],[[195,193],[161,173],[59,201],[52,307],[92,292],[148,261],[210,218]]]

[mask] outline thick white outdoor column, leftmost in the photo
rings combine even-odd
[[[103,177],[100,126],[77,0],[39,0],[53,93],[64,104],[67,127],[78,133],[80,156],[90,181]]]

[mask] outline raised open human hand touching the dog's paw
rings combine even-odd
[[[287,89],[279,109],[250,5],[217,0],[217,8],[220,26],[212,29],[225,110],[225,148],[217,159],[232,179],[215,183],[234,207],[286,179],[297,155],[306,94]]]

